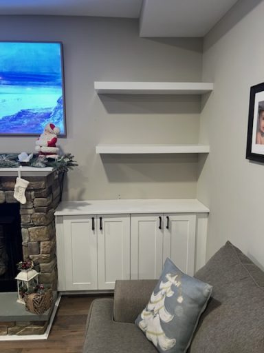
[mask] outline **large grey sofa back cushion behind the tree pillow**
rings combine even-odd
[[[190,353],[264,352],[264,272],[228,241],[195,277],[213,286]]]

